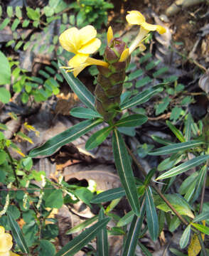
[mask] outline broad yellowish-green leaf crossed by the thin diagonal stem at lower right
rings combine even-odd
[[[193,212],[191,211],[191,207],[188,205],[187,201],[182,196],[180,196],[179,194],[167,194],[164,196],[171,203],[171,205],[178,211],[179,214],[187,215],[190,218],[194,218]],[[155,204],[156,208],[164,210],[166,213],[169,211],[173,213],[171,208],[169,208],[161,198],[155,197]]]

